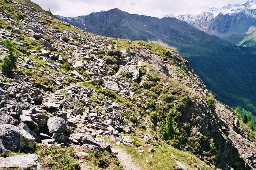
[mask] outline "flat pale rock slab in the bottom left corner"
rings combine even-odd
[[[35,168],[41,169],[39,158],[36,154],[22,154],[8,158],[0,158],[0,168]]]

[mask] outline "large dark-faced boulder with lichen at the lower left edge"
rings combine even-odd
[[[26,150],[35,145],[35,138],[20,127],[10,124],[0,125],[0,139],[4,147],[9,150]]]

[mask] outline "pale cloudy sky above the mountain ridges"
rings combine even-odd
[[[118,8],[130,14],[162,18],[167,14],[198,14],[204,9],[228,4],[244,4],[247,0],[31,0],[54,15],[76,17],[92,12]]]

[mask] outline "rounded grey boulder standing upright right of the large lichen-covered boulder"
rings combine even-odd
[[[47,121],[49,133],[64,133],[67,129],[66,121],[61,117],[50,117]]]

